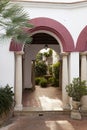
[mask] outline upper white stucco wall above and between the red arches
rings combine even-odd
[[[57,20],[63,24],[71,33],[74,44],[82,29],[87,24],[87,3],[85,4],[45,4],[21,2],[21,5],[29,13],[30,19],[37,17],[47,17]]]

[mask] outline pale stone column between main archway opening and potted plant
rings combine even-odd
[[[69,97],[66,92],[66,85],[68,85],[68,53],[62,54],[62,100],[63,100],[63,108],[68,110],[70,109],[69,105]]]

